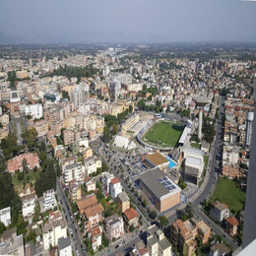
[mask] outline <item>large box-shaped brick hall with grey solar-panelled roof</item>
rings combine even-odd
[[[140,188],[151,203],[164,212],[180,201],[180,187],[169,179],[159,168],[150,169],[140,175]]]

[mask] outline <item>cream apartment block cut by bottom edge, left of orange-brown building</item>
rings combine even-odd
[[[159,227],[154,224],[148,227],[147,249],[152,256],[171,256],[171,245]]]

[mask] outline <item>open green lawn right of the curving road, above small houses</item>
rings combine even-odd
[[[232,213],[243,210],[245,192],[236,186],[236,183],[226,178],[220,178],[211,201],[219,200],[226,204]]]

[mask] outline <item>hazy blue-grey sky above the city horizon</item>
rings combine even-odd
[[[256,41],[256,0],[1,0],[0,32],[49,42]]]

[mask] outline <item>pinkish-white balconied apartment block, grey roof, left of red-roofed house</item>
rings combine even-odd
[[[116,214],[110,216],[104,220],[105,229],[109,235],[109,238],[119,238],[124,235],[123,219]]]

